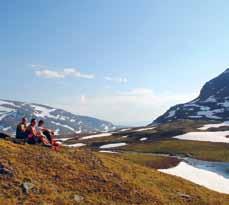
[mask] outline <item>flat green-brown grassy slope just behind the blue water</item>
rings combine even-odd
[[[192,156],[209,161],[229,162],[229,144],[167,139],[151,143],[130,144],[120,148],[143,153],[167,153]]]

